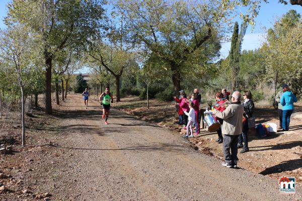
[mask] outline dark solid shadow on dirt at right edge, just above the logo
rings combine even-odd
[[[284,171],[295,170],[300,167],[302,167],[302,159],[294,159],[294,160],[283,161],[277,165],[266,168],[265,170],[259,173],[263,175],[281,173]]]

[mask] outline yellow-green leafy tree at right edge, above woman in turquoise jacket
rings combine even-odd
[[[266,53],[267,79],[275,80],[275,94],[278,80],[290,82],[291,78],[298,78],[296,75],[301,69],[301,27],[300,16],[289,11],[274,24],[273,29],[267,31],[263,50]]]

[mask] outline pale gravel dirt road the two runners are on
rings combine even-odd
[[[192,149],[173,132],[112,109],[109,125],[97,100],[85,109],[71,96],[60,113],[63,140],[54,149],[64,155],[49,170],[40,189],[61,200],[301,200],[280,194],[278,181]],[[239,161],[240,166],[240,161]],[[47,170],[48,171],[48,170]]]

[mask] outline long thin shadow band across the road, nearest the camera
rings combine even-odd
[[[139,150],[139,151],[181,151],[185,146],[181,145],[172,145],[172,144],[154,144],[154,145],[145,145],[145,146],[133,146],[133,147],[124,147],[118,149],[96,149],[96,148],[82,148],[82,147],[63,147],[54,144],[48,144],[48,146],[61,148],[61,149],[74,149],[74,150],[99,150],[99,151],[118,151],[118,150],[125,150],[125,151],[132,151],[132,150]]]

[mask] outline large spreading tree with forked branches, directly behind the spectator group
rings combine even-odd
[[[169,65],[175,94],[182,75],[191,69],[206,71],[211,47],[214,58],[220,45],[212,41],[221,37],[224,22],[233,5],[217,1],[120,0],[117,5],[130,22],[131,38]]]

